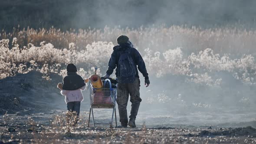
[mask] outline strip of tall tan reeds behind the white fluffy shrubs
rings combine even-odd
[[[199,52],[206,48],[217,53],[256,54],[256,31],[236,28],[201,29],[186,26],[158,26],[137,29],[70,29],[62,32],[60,29],[14,29],[12,33],[1,32],[0,39],[17,38],[20,46],[33,43],[39,46],[42,41],[52,43],[58,49],[64,49],[69,43],[75,43],[79,49],[97,41],[116,43],[117,36],[126,34],[138,49],[152,49],[164,52],[167,49],[183,47],[185,52]]]

